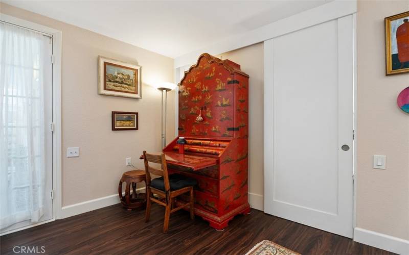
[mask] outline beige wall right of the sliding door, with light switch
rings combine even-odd
[[[409,1],[359,1],[357,13],[356,225],[409,240],[409,115],[396,105],[409,73],[385,76],[383,18]],[[372,168],[373,155],[387,169]]]

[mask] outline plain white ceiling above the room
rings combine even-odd
[[[176,58],[329,1],[3,2]]]

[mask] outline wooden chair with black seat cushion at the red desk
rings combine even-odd
[[[197,181],[179,174],[168,175],[165,154],[153,155],[147,154],[146,151],[144,151],[144,162],[147,185],[146,222],[149,221],[151,201],[165,207],[164,233],[168,231],[170,214],[173,212],[189,207],[190,218],[193,220],[193,186],[197,184]],[[149,166],[149,162],[161,164],[162,169]],[[160,175],[162,177],[151,180],[150,174]],[[175,208],[176,197],[184,193],[189,193],[189,202],[181,201],[182,205]],[[159,196],[160,199],[153,197],[153,194]]]

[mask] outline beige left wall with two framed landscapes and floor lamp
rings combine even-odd
[[[143,167],[142,151],[161,148],[161,93],[153,80],[173,82],[173,59],[0,3],[4,14],[62,31],[62,205],[118,192],[125,158]],[[142,66],[142,99],[97,93],[98,55]],[[174,93],[168,98],[168,140],[174,137]],[[138,131],[111,131],[111,111],[139,112]],[[66,158],[66,147],[80,147]],[[143,169],[143,168],[142,168]]]

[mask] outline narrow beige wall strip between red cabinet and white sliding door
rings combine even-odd
[[[248,137],[248,192],[249,201],[257,209],[263,208],[264,194],[264,150],[263,150],[263,86],[264,50],[263,43],[223,53],[222,59],[229,59],[241,65],[249,78],[249,137]]]

